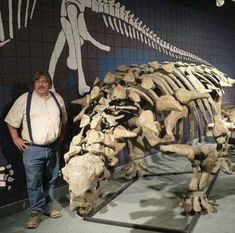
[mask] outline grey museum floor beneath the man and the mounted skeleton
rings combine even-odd
[[[235,163],[235,148],[230,155]],[[216,200],[217,213],[186,216],[178,207],[190,179],[190,163],[182,157],[155,154],[146,158],[153,174],[139,180],[124,180],[117,169],[97,212],[83,219],[69,210],[66,195],[56,205],[63,217],[43,217],[39,228],[25,229],[26,210],[0,219],[1,233],[231,233],[235,228],[235,172],[220,172],[211,178],[208,192]],[[105,204],[104,204],[105,203]],[[101,208],[102,207],[102,208]]]

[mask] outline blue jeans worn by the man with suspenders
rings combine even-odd
[[[53,204],[55,181],[59,174],[58,144],[29,146],[23,153],[29,211],[45,213]]]

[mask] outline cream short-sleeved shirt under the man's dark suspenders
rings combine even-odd
[[[64,100],[58,93],[54,94],[62,109],[62,119],[60,119],[59,107],[50,93],[48,97],[44,99],[33,91],[30,120],[33,143],[35,144],[47,145],[54,142],[59,137],[61,123],[66,124],[67,122]],[[15,128],[22,126],[22,138],[31,142],[26,121],[27,96],[28,93],[24,93],[15,101],[5,118],[5,122]]]

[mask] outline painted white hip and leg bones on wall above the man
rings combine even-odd
[[[85,7],[86,7],[86,1],[62,0],[61,3],[62,30],[57,38],[49,64],[49,73],[53,78],[57,61],[60,57],[65,42],[67,41],[69,46],[69,56],[67,58],[67,66],[71,70],[78,71],[79,94],[84,94],[90,90],[90,87],[86,84],[85,75],[82,68],[81,46],[84,44],[84,41],[90,41],[93,45],[95,45],[99,49],[105,51],[110,50],[109,46],[102,45],[97,40],[95,40],[88,32],[84,18]]]

